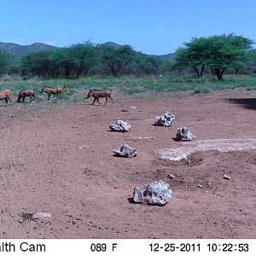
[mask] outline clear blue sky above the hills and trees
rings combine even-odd
[[[130,44],[152,55],[192,37],[234,32],[256,41],[255,0],[0,0],[0,42]]]

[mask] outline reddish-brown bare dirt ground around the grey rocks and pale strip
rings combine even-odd
[[[179,147],[173,137],[181,125],[197,140],[255,139],[255,99],[233,90],[100,107],[43,101],[0,108],[0,237],[256,238],[255,150],[197,152],[179,162],[159,154]],[[151,125],[167,110],[177,118],[172,127]],[[108,131],[117,119],[132,131]],[[123,143],[137,148],[136,158],[113,157]],[[130,202],[134,187],[157,179],[171,185],[165,207]],[[22,218],[40,211],[52,218]]]

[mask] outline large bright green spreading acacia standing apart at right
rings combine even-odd
[[[177,64],[192,67],[199,77],[208,67],[221,80],[228,67],[241,67],[252,44],[251,39],[234,34],[192,38],[190,43],[177,50]]]

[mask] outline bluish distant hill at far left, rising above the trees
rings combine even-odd
[[[38,52],[44,49],[56,49],[56,47],[48,44],[42,44],[42,43],[20,45],[20,44],[0,42],[0,49],[6,51],[11,55],[14,55],[15,59],[20,59],[23,55],[26,55],[29,52]]]

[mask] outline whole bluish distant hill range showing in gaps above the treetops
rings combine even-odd
[[[121,47],[120,44],[116,44],[113,42],[107,42],[105,43],[108,46],[113,46],[116,48]],[[44,49],[56,49],[58,47],[49,45],[49,44],[42,44],[42,43],[34,43],[30,45],[20,45],[20,44],[14,44],[14,43],[2,43],[0,42],[0,49],[3,49],[7,53],[14,55],[15,60],[19,60],[22,56],[30,53],[30,52],[38,52]],[[147,55],[147,54],[145,54]],[[176,58],[175,53],[171,53],[168,55],[148,55],[148,56],[154,56],[160,58],[162,61],[172,61]]]

